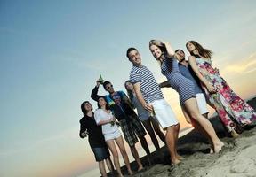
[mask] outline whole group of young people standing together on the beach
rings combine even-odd
[[[89,143],[96,161],[99,162],[102,176],[107,176],[104,160],[110,172],[114,169],[108,149],[112,153],[118,176],[123,176],[116,144],[128,173],[132,174],[124,140],[128,143],[132,156],[138,164],[138,171],[143,169],[135,147],[139,140],[150,163],[145,129],[159,154],[161,150],[156,135],[166,144],[170,152],[171,164],[180,164],[182,158],[177,151],[180,123],[171,106],[164,100],[160,88],[171,87],[178,92],[185,119],[209,140],[210,153],[218,153],[224,143],[220,141],[207,119],[207,104],[216,110],[220,122],[234,138],[239,136],[244,126],[256,120],[256,112],[252,107],[237,96],[220,76],[219,70],[212,67],[212,51],[204,49],[195,41],[187,42],[186,47],[190,53],[188,61],[185,59],[184,51],[173,50],[169,42],[159,40],[149,42],[149,50],[167,79],[163,83],[158,84],[148,68],[142,65],[140,52],[135,48],[129,48],[126,52],[126,57],[132,63],[130,80],[124,83],[128,96],[124,91],[115,91],[110,81],[102,83],[108,95],[99,96],[98,89],[101,82],[96,81],[91,97],[98,102],[98,109],[93,113],[92,104],[88,101],[81,105],[84,117],[80,120],[80,137],[89,135]],[[134,112],[135,108],[137,113]],[[166,132],[165,135],[160,127]]]

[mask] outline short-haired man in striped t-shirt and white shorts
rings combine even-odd
[[[153,74],[145,65],[142,65],[140,53],[135,48],[129,48],[126,52],[127,58],[132,62],[130,80],[132,81],[136,96],[140,104],[148,111],[155,112],[160,126],[166,130],[165,141],[171,154],[172,165],[180,163],[177,153],[176,142],[178,140],[180,124],[177,121],[172,108],[164,100]]]

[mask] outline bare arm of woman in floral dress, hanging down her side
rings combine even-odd
[[[194,73],[196,73],[196,77],[204,84],[204,86],[208,89],[210,93],[215,93],[216,89],[212,86],[209,81],[207,81],[204,76],[200,73],[197,65],[196,65],[196,58],[194,56],[188,57],[188,63],[191,66]]]

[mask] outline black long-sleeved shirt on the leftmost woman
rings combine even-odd
[[[81,134],[87,130],[89,136],[89,144],[91,148],[100,148],[107,147],[107,144],[104,139],[104,135],[102,135],[102,128],[98,126],[94,119],[94,114],[92,117],[84,115],[82,119],[80,119],[80,137],[84,138]]]

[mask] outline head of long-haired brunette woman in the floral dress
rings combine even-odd
[[[189,41],[186,43],[186,48],[192,56],[199,57],[200,55],[204,58],[212,58],[212,51],[204,49],[198,42]]]

